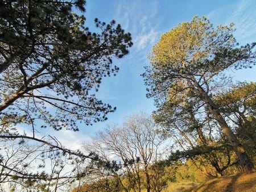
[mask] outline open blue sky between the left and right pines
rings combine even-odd
[[[146,87],[140,76],[148,65],[147,55],[152,45],[158,42],[164,32],[180,22],[189,21],[195,15],[207,16],[214,26],[235,23],[235,37],[238,43],[256,41],[256,1],[255,0],[195,0],[195,1],[151,1],[151,0],[88,0],[86,6],[86,26],[93,31],[93,20],[98,18],[106,23],[114,19],[130,32],[134,46],[123,59],[114,60],[120,70],[117,76],[102,80],[98,98],[117,111],[108,115],[108,120],[93,126],[81,126],[79,132],[52,131],[67,147],[77,148],[82,141],[88,140],[94,132],[101,130],[107,123],[122,123],[134,113],[155,109],[152,99],[146,98]],[[238,80],[256,81],[256,66],[250,70],[230,72]]]

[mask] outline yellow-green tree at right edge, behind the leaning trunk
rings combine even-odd
[[[214,98],[224,112],[236,112],[236,134],[246,152],[253,158],[256,155],[256,83],[243,82]]]

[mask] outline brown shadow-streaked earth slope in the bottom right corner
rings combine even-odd
[[[192,191],[253,192],[256,191],[256,173],[216,178],[205,182]]]

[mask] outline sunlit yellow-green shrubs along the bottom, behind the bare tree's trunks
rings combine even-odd
[[[225,158],[225,157],[223,157]],[[240,169],[236,166],[231,166],[225,170],[225,175],[230,176],[230,174],[240,173]],[[143,172],[143,170],[142,170]],[[141,172],[141,173],[142,173]],[[193,160],[188,159],[185,163],[181,161],[176,161],[172,165],[156,165],[150,168],[150,177],[154,178],[154,182],[151,180],[151,190],[160,189],[162,191],[191,191],[195,186],[200,185],[200,183],[207,182],[216,178],[220,175],[217,174],[216,170],[212,165],[209,164],[206,158],[194,158]],[[129,179],[127,175],[122,176],[121,181],[123,186],[127,189],[129,186]],[[107,180],[98,180],[94,183],[80,186],[79,191],[114,191],[117,190],[117,181],[110,177]],[[145,189],[146,178],[141,175],[141,191],[146,191]],[[108,184],[108,187],[106,186]],[[119,186],[120,191],[125,191],[122,186]],[[137,188],[138,189],[138,188]],[[129,189],[133,191],[132,189]],[[72,190],[77,191],[77,187]]]

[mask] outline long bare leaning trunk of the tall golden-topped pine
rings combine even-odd
[[[220,111],[218,110],[215,103],[212,101],[209,95],[203,90],[203,88],[198,84],[197,81],[194,81],[194,85],[197,88],[196,91],[199,92],[202,99],[206,103],[209,112],[213,115],[214,119],[217,120],[225,136],[228,138],[229,143],[232,145],[234,152],[236,153],[240,161],[240,164],[242,165],[243,170],[245,170],[247,173],[253,172],[254,171],[253,162],[251,161],[250,157],[247,155],[245,149],[242,147],[242,144],[237,139],[236,135],[234,135],[234,132],[226,123],[226,120],[220,114]]]

